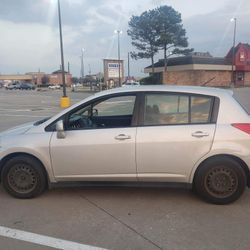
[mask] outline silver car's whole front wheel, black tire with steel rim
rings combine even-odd
[[[36,197],[47,187],[42,164],[29,156],[16,156],[7,161],[1,179],[5,190],[20,199]]]

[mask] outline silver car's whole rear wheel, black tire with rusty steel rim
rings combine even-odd
[[[195,192],[210,203],[224,205],[236,201],[247,184],[240,164],[229,157],[205,161],[194,177]]]

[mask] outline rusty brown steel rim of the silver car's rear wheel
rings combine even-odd
[[[205,188],[216,198],[227,198],[235,193],[238,177],[235,171],[225,166],[212,168],[205,176]]]

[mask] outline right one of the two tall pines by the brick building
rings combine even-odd
[[[183,28],[181,14],[172,7],[164,5],[152,10],[159,34],[157,46],[164,53],[164,71],[167,71],[167,60],[176,54],[189,54],[193,49],[188,47],[186,30]],[[170,53],[168,53],[170,52]]]

